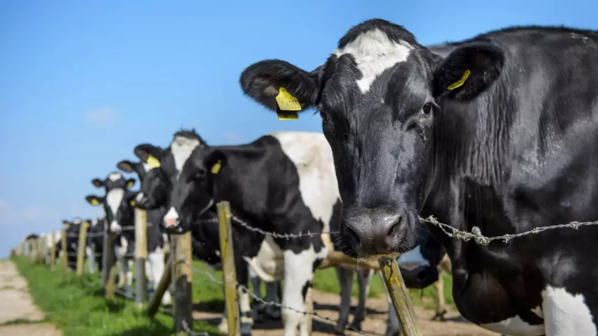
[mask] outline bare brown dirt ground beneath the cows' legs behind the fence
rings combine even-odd
[[[340,297],[335,294],[322,291],[313,291],[314,309],[316,313],[331,319],[338,318],[338,304]],[[357,299],[352,300],[352,312],[357,304]],[[386,331],[386,318],[388,316],[388,301],[386,298],[368,298],[367,317],[362,324],[363,331],[367,335],[383,335]],[[422,334],[425,336],[499,336],[496,332],[490,332],[480,326],[464,320],[458,312],[449,310],[445,316],[447,321],[436,322],[431,318],[434,312],[425,310],[421,307],[415,307],[415,313],[419,321]],[[220,313],[194,312],[194,318],[208,320],[214,325],[220,322]],[[353,319],[350,315],[349,321]],[[313,319],[312,336],[328,336],[332,333],[334,325],[331,322]],[[282,332],[282,322],[256,323],[252,331],[254,336],[274,336]],[[346,331],[345,335],[359,335],[357,332]]]

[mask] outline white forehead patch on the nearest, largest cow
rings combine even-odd
[[[413,48],[413,45],[405,41],[391,41],[382,30],[373,29],[357,36],[343,48],[335,50],[334,55],[353,56],[362,75],[361,79],[357,80],[357,85],[362,93],[367,93],[377,76],[396,63],[406,61]]]

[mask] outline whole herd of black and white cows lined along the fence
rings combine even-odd
[[[419,266],[404,269],[405,282],[419,288],[438,279],[446,251],[453,298],[466,319],[511,335],[596,335],[596,226],[480,245],[420,218],[434,215],[468,232],[479,227],[486,236],[597,220],[596,55],[592,30],[511,27],[426,47],[402,26],[368,20],[312,71],[263,60],[240,76],[243,93],[280,119],[315,107],[323,134],[281,131],[209,146],[195,131],[179,131],[168,147],[140,144],[138,162],[117,164],[136,172],[139,192],[130,190],[134,179],[113,172],[92,181],[105,195],[86,199],[103,206],[108,230],[120,235],[115,252],[129,288],[135,237],[125,229],[135,207],[151,223],[155,283],[164,271],[164,234],[190,230],[194,255],[219,263],[215,204],[230,202],[237,282],[251,278],[257,291],[260,279],[267,283],[268,300],[283,309],[265,313],[282,316],[285,336],[297,327],[307,335],[299,312],[331,251],[409,251],[401,261],[417,257]],[[101,248],[88,243],[90,252]],[[347,325],[354,273],[337,267],[338,333]],[[352,324],[359,328],[372,273],[357,275]],[[243,332],[260,309],[251,312],[240,289]],[[391,318],[386,335],[397,333]]]

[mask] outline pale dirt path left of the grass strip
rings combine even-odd
[[[51,323],[39,323],[44,319],[44,313],[35,306],[29,295],[25,278],[19,275],[11,261],[0,260],[0,335],[62,335]]]

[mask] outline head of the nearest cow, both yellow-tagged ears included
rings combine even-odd
[[[441,106],[483,93],[503,63],[490,42],[469,42],[442,58],[402,26],[376,19],[352,27],[312,72],[264,60],[246,68],[240,84],[279,118],[318,110],[334,155],[347,252],[376,255],[417,243]]]

